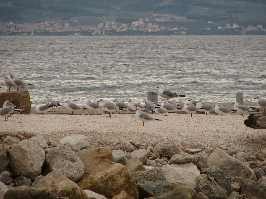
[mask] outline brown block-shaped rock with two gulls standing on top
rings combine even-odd
[[[24,109],[20,111],[21,114],[30,114],[31,109],[31,101],[29,91],[8,91],[0,93],[0,107],[3,108],[3,104],[5,101],[9,101],[9,103],[14,104],[15,106],[19,106],[20,109]]]

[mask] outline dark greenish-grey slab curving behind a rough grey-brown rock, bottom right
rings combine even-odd
[[[218,184],[226,190],[226,194],[229,195],[231,190],[231,177],[225,171],[222,170],[208,170],[208,177],[213,177]]]

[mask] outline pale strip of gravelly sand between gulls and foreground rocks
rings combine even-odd
[[[58,107],[54,112],[42,115],[34,113],[33,108],[30,115],[14,114],[8,121],[0,118],[0,133],[41,135],[46,140],[56,142],[78,134],[106,143],[118,140],[151,143],[155,139],[179,143],[186,139],[208,148],[235,144],[252,154],[260,153],[266,144],[266,129],[245,126],[244,120],[248,114],[227,114],[223,119],[220,119],[220,115],[201,114],[193,114],[191,118],[182,112],[170,113],[169,116],[151,114],[163,121],[147,122],[143,127],[142,121],[134,114],[113,114],[110,118],[108,115],[80,114],[82,111],[77,115],[69,113],[65,107]]]

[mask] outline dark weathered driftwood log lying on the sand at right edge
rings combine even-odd
[[[253,129],[266,129],[266,113],[251,113],[244,123]]]

